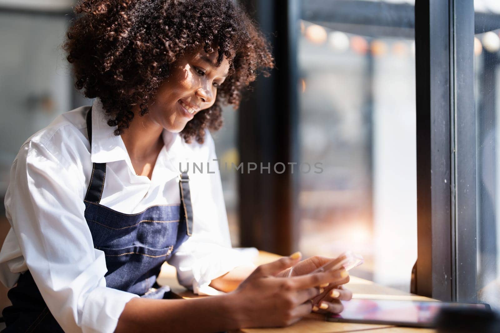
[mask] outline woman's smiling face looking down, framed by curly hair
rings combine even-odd
[[[197,112],[212,106],[229,69],[225,56],[218,67],[216,58],[217,51],[200,49],[172,63],[168,77],[148,105],[150,120],[167,131],[180,132]]]

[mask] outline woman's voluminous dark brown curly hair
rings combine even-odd
[[[116,126],[115,135],[147,103],[185,52],[217,47],[217,66],[225,55],[229,73],[214,104],[199,111],[182,130],[183,139],[203,143],[204,129],[222,126],[221,103],[237,108],[243,89],[273,67],[270,46],[235,0],[80,0],[64,50],[72,63],[75,87],[99,97]]]

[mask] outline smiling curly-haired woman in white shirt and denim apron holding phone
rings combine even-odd
[[[341,311],[347,273],[307,274],[326,258],[254,269],[230,248],[208,129],[222,124],[221,102],[237,107],[272,68],[249,18],[231,0],[82,0],[75,11],[67,59],[95,100],[34,134],[12,164],[5,331],[212,332],[289,325],[313,305]],[[179,171],[187,162],[212,171]],[[165,260],[194,292],[229,293],[169,299],[156,284]]]

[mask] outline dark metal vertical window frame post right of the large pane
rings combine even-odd
[[[476,301],[473,0],[415,3],[416,292]]]

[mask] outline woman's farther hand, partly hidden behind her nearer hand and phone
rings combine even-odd
[[[306,260],[303,260],[293,266],[291,276],[300,276],[304,274],[308,274],[317,268],[323,266],[324,264],[331,261],[332,258],[326,258],[321,256],[310,257]],[[289,269],[283,270],[278,274],[278,276],[286,277],[288,276]],[[343,271],[345,272],[345,271]],[[346,273],[344,273],[346,274]],[[342,312],[343,305],[340,301],[350,301],[352,298],[352,293],[343,288],[343,284],[349,282],[349,276],[346,276],[344,280],[339,283],[329,283],[325,284],[321,287],[322,292],[314,297],[311,301],[313,303],[312,311],[318,313],[334,313],[338,314]]]

